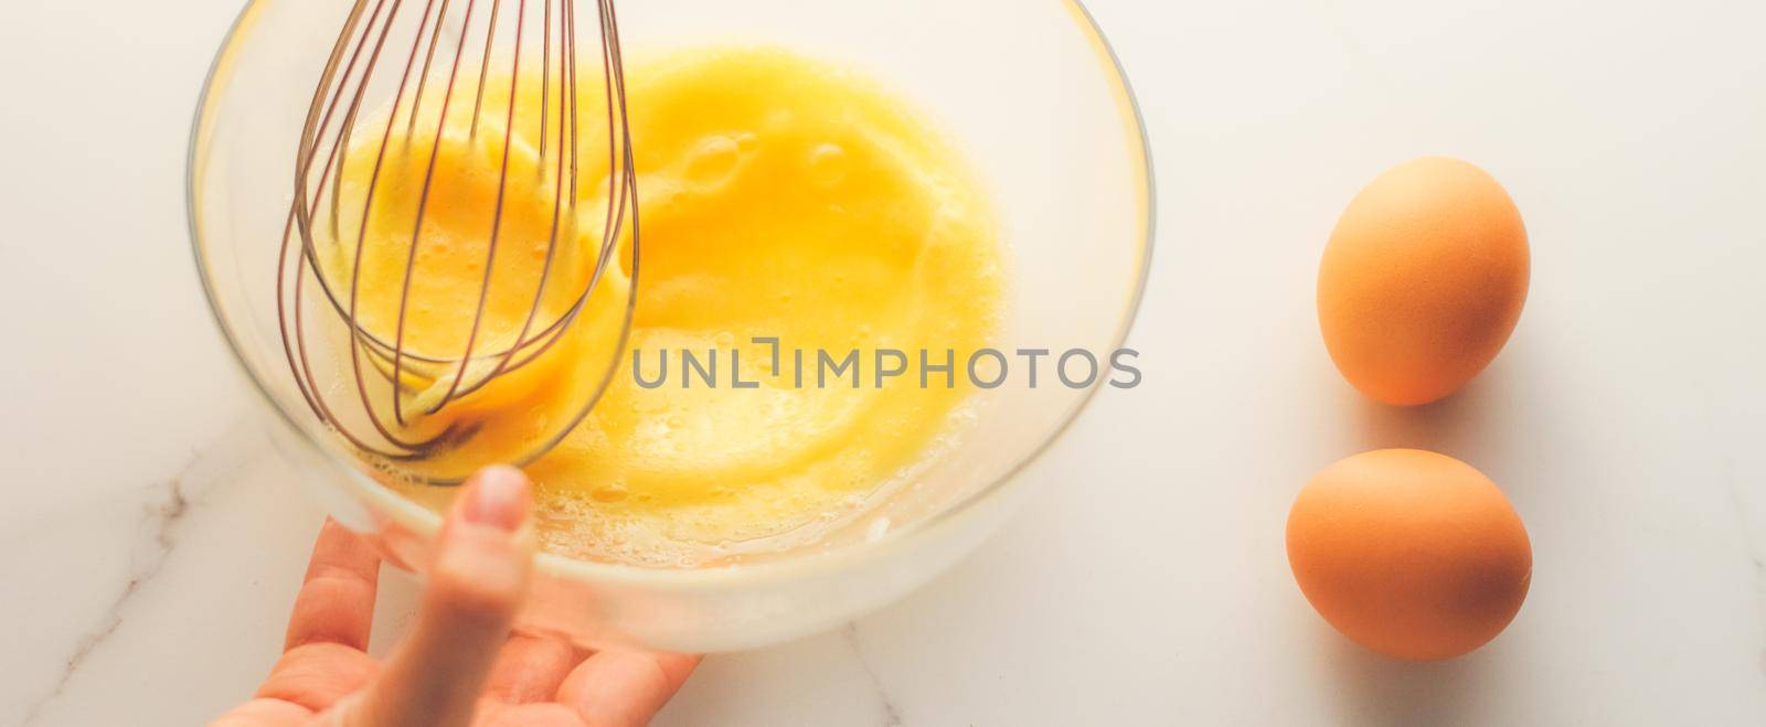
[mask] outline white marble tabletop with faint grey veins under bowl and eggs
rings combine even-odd
[[[187,252],[189,116],[238,5],[0,7],[4,725],[238,702],[321,517]],[[1766,5],[1091,5],[1157,154],[1144,386],[968,563],[710,658],[660,722],[1766,723]],[[1420,154],[1508,185],[1533,293],[1462,395],[1397,411],[1337,378],[1312,277]],[[1469,461],[1528,524],[1528,603],[1468,658],[1370,656],[1287,573],[1294,492],[1376,446]],[[383,588],[381,641],[411,605]]]

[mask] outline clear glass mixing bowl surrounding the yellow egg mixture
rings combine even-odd
[[[221,48],[192,132],[191,236],[223,334],[277,413],[283,450],[344,524],[420,570],[452,489],[376,482],[313,416],[281,349],[274,270],[314,81],[350,0],[253,0]],[[1151,254],[1151,168],[1127,78],[1070,0],[627,0],[629,56],[770,44],[864,69],[943,125],[991,187],[1015,295],[1000,349],[1109,360]],[[639,282],[641,284],[641,282]],[[539,556],[523,628],[585,646],[752,648],[888,603],[1008,513],[1014,475],[1104,386],[987,392],[973,429],[849,528],[761,563],[641,568]]]

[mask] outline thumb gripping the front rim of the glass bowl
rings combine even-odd
[[[486,468],[454,501],[408,641],[350,706],[346,725],[447,727],[473,718],[528,588],[533,531],[526,475]]]

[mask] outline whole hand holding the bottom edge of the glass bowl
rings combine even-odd
[[[217,727],[602,727],[648,722],[698,656],[516,633],[533,563],[530,489],[516,468],[466,482],[442,526],[417,623],[385,663],[367,655],[380,556],[327,521],[295,598],[283,658]]]

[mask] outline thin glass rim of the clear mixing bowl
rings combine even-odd
[[[357,496],[366,496],[373,499],[381,512],[392,521],[404,526],[410,533],[420,536],[424,542],[431,542],[442,526],[442,515],[429,510],[417,501],[397,494],[394,489],[385,487],[378,480],[367,476],[358,468],[344,462],[339,452],[325,446],[314,438],[314,432],[302,427],[293,420],[288,409],[277,404],[275,397],[268,392],[267,385],[260,381],[258,374],[245,362],[240,353],[240,344],[228,328],[226,319],[217,305],[214,284],[208,279],[208,259],[205,252],[205,236],[200,217],[200,169],[203,168],[203,159],[207,152],[208,129],[214,122],[215,97],[223,81],[226,81],[231,72],[231,64],[238,53],[238,46],[244,35],[260,19],[260,11],[272,0],[247,0],[245,7],[240,9],[233,25],[228,28],[226,37],[215,53],[214,62],[208,67],[207,78],[203,79],[201,97],[196,104],[194,120],[191,124],[191,139],[185,157],[185,224],[191,236],[191,252],[196,263],[196,277],[203,286],[203,298],[208,304],[210,318],[226,341],[228,353],[235,367],[244,372],[245,379],[251,381],[251,388],[258,397],[275,413],[275,418],[283,427],[291,429],[304,446],[309,446],[320,453],[320,459],[328,464],[332,471],[341,475]],[[1111,92],[1116,97],[1118,115],[1121,116],[1125,141],[1130,145],[1130,164],[1136,166],[1134,175],[1137,176],[1139,187],[1139,206],[1141,206],[1141,240],[1139,244],[1139,265],[1134,274],[1132,291],[1123,300],[1123,309],[1113,335],[1114,348],[1127,344],[1128,334],[1134,330],[1134,323],[1141,312],[1141,302],[1146,296],[1146,284],[1151,275],[1153,247],[1157,236],[1157,184],[1153,176],[1153,152],[1146,132],[1146,116],[1141,113],[1141,104],[1134,94],[1134,86],[1128,81],[1128,72],[1111,46],[1104,30],[1098,26],[1091,11],[1086,9],[1083,0],[1056,0],[1067,7],[1075,30],[1079,30],[1091,44],[1093,56],[1098,62],[1102,72],[1107,76]],[[586,581],[599,584],[620,584],[620,586],[638,586],[650,589],[668,589],[668,591],[699,591],[699,589],[721,589],[728,586],[749,586],[756,581],[791,581],[802,579],[816,573],[826,573],[834,570],[842,570],[846,566],[858,565],[874,558],[881,558],[888,551],[902,549],[909,543],[927,538],[936,529],[952,528],[961,522],[964,515],[980,512],[980,505],[992,501],[1005,492],[1012,491],[1010,483],[1019,480],[1031,464],[1042,459],[1056,441],[1072,429],[1079,415],[1086,411],[1091,399],[1097,397],[1098,390],[1104,388],[1104,378],[1088,386],[1079,399],[1070,404],[1068,411],[1061,415],[1061,420],[1044,434],[1042,441],[1037,443],[1030,452],[1021,455],[1015,464],[1007,468],[1001,475],[992,478],[985,487],[954,501],[947,508],[932,513],[931,517],[902,524],[899,528],[890,528],[885,535],[862,540],[853,543],[837,545],[826,551],[807,552],[802,556],[789,556],[777,561],[759,561],[759,563],[735,563],[708,568],[653,568],[627,563],[600,563],[577,559],[569,556],[560,556],[546,551],[535,552],[535,568],[546,575],[558,575],[572,581]]]

